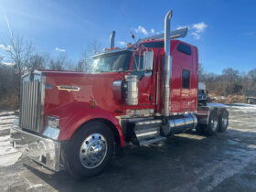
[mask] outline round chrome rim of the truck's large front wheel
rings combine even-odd
[[[107,155],[107,142],[100,133],[89,135],[80,145],[80,163],[86,168],[101,165]]]

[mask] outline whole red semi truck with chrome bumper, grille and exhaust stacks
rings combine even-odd
[[[225,108],[197,106],[197,48],[177,40],[187,28],[140,39],[92,57],[91,72],[34,70],[21,82],[12,144],[48,168],[93,176],[125,144],[154,144],[197,129],[227,129]]]

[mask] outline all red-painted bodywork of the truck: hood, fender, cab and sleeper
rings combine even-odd
[[[179,40],[171,42],[173,58],[170,90],[171,112],[195,112],[197,111],[197,48],[187,44],[192,48],[192,54],[188,56],[176,50],[180,42]],[[101,118],[115,125],[123,145],[122,129],[115,116],[124,115],[127,109],[155,109],[155,112],[161,112],[164,48],[153,48],[153,50],[155,51],[154,70],[150,77],[143,77],[140,80],[139,104],[137,106],[127,106],[124,100],[116,98],[115,92],[112,90],[112,82],[124,80],[125,74],[131,73],[129,71],[85,74],[46,70],[47,89],[44,112],[45,115],[59,117],[61,129],[59,140],[68,140],[80,127],[80,124],[91,119]],[[132,68],[133,59],[131,59],[130,69]],[[187,91],[182,90],[182,69],[190,71],[190,89]],[[61,85],[78,87],[80,90],[59,90],[58,86]],[[157,85],[158,95],[156,96]],[[150,99],[151,95],[152,100]],[[157,101],[156,98],[158,98]],[[95,101],[94,109],[90,108],[90,101]],[[188,101],[189,104],[186,105]]]

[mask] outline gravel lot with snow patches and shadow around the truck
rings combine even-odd
[[[256,191],[256,105],[233,104],[229,130],[126,146],[100,176],[74,181],[9,146],[14,112],[0,112],[0,191]]]

